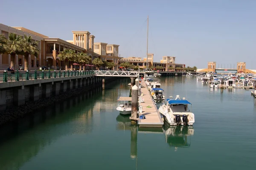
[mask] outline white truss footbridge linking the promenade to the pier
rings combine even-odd
[[[138,77],[137,71],[94,71],[95,76],[102,77]]]

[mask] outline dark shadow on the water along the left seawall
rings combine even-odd
[[[114,82],[106,85],[105,91],[112,88]],[[78,133],[76,129],[67,130],[61,126],[71,122],[72,119],[75,121],[76,116],[81,117],[82,123],[92,124],[94,103],[101,96],[102,87],[99,87],[76,97],[52,103],[51,106],[40,109],[34,114],[1,126],[0,170],[19,169],[26,161],[61,136]],[[81,109],[84,106],[86,108]]]

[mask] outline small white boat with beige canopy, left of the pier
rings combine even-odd
[[[131,114],[131,97],[119,97],[117,101],[119,101],[119,104],[116,110],[119,111],[120,114]]]

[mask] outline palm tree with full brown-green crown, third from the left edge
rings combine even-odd
[[[38,42],[37,41],[32,41],[31,36],[26,36],[24,35],[23,39],[23,49],[22,53],[24,55],[24,70],[28,70],[28,59],[29,59],[29,54],[35,55],[37,57],[37,54],[39,54],[40,50],[38,48]]]

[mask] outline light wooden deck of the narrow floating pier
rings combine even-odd
[[[144,80],[142,80],[142,86],[141,92],[143,93],[142,97],[144,102],[139,103],[139,106],[142,106],[142,113],[139,113],[139,116],[143,114],[145,119],[139,119],[138,125],[140,125],[140,127],[162,127],[163,120],[161,119],[157,106],[154,104]],[[147,108],[147,106],[151,106],[151,108]]]

